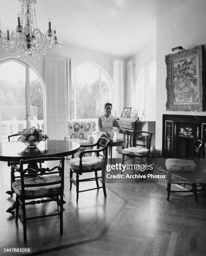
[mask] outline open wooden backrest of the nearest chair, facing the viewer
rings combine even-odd
[[[42,162],[47,161],[59,161],[58,165],[55,165],[52,168],[44,168],[42,167]],[[64,190],[64,157],[45,157],[45,158],[38,158],[38,159],[29,159],[29,160],[20,160],[20,178],[21,178],[21,189],[22,189],[22,196],[25,197],[25,188],[26,187],[46,187],[52,186],[56,184],[60,184],[59,192],[63,193]],[[38,165],[39,164],[39,165]],[[24,169],[24,165],[27,167]],[[36,177],[36,176],[44,176],[44,175],[51,175],[51,174],[58,174],[61,179],[52,182],[44,182],[35,184],[25,184],[25,177]]]

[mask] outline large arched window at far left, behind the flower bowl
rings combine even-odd
[[[15,58],[0,61],[0,140],[23,128],[44,128],[43,82],[35,70]]]

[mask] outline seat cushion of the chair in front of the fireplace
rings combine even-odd
[[[166,159],[165,165],[168,171],[193,171],[196,164],[193,160],[169,158]]]

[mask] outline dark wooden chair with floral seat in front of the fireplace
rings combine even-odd
[[[167,185],[167,201],[169,201],[171,192],[193,192],[196,202],[197,197],[197,184],[193,174],[198,172],[199,162],[201,158],[201,149],[203,143],[201,140],[195,140],[193,143],[193,158],[190,159],[166,159],[165,165],[168,172],[168,185]],[[174,177],[173,177],[174,176]],[[173,178],[173,179],[172,179]],[[188,183],[188,181],[190,183]],[[178,184],[181,186],[191,185],[191,189],[171,190],[171,184]]]

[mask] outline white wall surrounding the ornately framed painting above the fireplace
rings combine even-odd
[[[165,55],[171,48],[183,46],[190,49],[206,44],[206,0],[188,0],[157,22],[157,104],[156,147],[162,148],[162,115],[206,115],[206,112],[166,111],[166,64]]]

